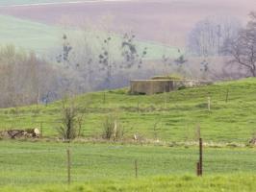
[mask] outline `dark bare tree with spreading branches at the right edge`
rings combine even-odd
[[[232,57],[230,63],[241,66],[248,76],[256,77],[256,12],[250,12],[250,20],[236,38],[226,41],[224,51]]]

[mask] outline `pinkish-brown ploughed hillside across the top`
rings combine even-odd
[[[16,4],[27,6],[13,7]],[[54,25],[107,26],[115,33],[132,30],[140,39],[178,47],[186,45],[188,32],[207,16],[230,16],[245,22],[248,12],[255,9],[254,0],[4,0],[1,5],[0,14]]]

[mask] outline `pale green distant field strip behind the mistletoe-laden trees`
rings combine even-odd
[[[17,47],[47,56],[47,54],[57,51],[62,47],[62,37],[64,34],[73,36],[71,39],[74,36],[81,36],[81,38],[85,38],[86,36],[91,49],[96,53],[99,52],[103,39],[109,36],[105,32],[81,32],[76,29],[64,29],[62,26],[51,26],[13,16],[0,15],[0,45],[13,44]],[[101,41],[97,36],[102,38]],[[113,56],[118,58],[120,57],[121,37],[116,34],[112,34],[111,36],[113,37],[111,44],[112,53]],[[75,40],[77,41],[78,39]],[[177,48],[161,43],[138,40],[137,44],[140,53],[144,47],[147,47],[146,60],[162,59],[163,54],[173,58],[180,55]]]

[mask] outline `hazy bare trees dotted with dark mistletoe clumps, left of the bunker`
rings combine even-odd
[[[130,32],[121,37],[87,29],[84,33],[65,33],[62,39],[54,58],[66,74],[62,86],[69,92],[72,87],[73,93],[127,84],[134,72],[141,69],[147,54],[147,48],[139,46],[135,34]]]

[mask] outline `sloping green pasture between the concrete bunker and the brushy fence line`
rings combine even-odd
[[[229,90],[227,103],[226,92]],[[210,142],[248,143],[256,132],[256,79],[187,88],[152,96],[129,95],[127,89],[93,92],[78,96],[76,103],[85,114],[83,135],[99,137],[104,117],[118,116],[125,137],[135,133],[148,139],[193,141],[198,125]],[[211,97],[211,111],[207,98]],[[139,108],[138,108],[139,104]],[[57,136],[61,102],[0,110],[0,128],[35,128],[42,122],[44,136]],[[138,110],[139,109],[139,110]],[[157,124],[155,127],[154,125]]]

